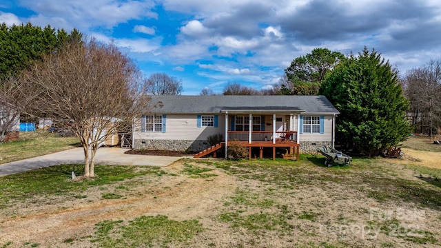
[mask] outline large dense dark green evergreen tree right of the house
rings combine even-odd
[[[349,56],[322,83],[320,93],[340,112],[340,142],[369,156],[409,137],[404,97],[396,70],[375,50]]]

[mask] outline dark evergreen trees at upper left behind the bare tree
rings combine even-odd
[[[80,39],[82,34],[74,29],[70,34],[65,30],[57,32],[47,25],[45,28],[25,25],[0,25],[0,76],[7,78],[17,75],[34,60],[41,61],[43,54],[57,50],[68,40]]]

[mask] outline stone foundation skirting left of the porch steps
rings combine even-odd
[[[207,141],[135,140],[133,149],[201,152],[208,147]]]

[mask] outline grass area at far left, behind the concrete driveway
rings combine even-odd
[[[45,131],[20,132],[18,141],[0,143],[0,164],[61,152],[79,146],[78,138]]]

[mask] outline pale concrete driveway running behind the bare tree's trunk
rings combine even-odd
[[[127,149],[121,149],[119,147],[101,147],[96,152],[95,164],[167,166],[182,158],[175,156],[131,155],[124,154],[125,151],[127,151]],[[0,176],[16,174],[52,165],[70,163],[84,163],[83,147],[0,165]]]

